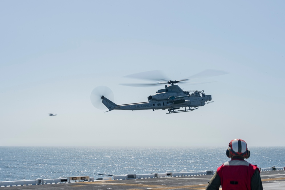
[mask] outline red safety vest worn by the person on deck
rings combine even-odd
[[[223,163],[217,169],[217,174],[221,178],[222,189],[251,190],[251,177],[256,169],[258,169],[256,165],[241,159],[232,159]]]

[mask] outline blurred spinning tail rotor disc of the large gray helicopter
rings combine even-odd
[[[101,96],[105,96],[109,100],[114,100],[114,94],[110,88],[107,86],[97,86],[94,88],[90,95],[90,100],[92,105],[100,110],[105,110],[107,107],[102,103]]]

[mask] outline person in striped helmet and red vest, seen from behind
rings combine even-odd
[[[218,190],[220,185],[223,190],[263,189],[258,167],[244,160],[250,156],[244,140],[232,140],[226,154],[231,160],[218,167],[206,190]]]

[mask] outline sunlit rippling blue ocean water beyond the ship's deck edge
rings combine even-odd
[[[0,147],[0,181],[216,170],[225,147]],[[284,167],[285,147],[251,147],[258,167]]]

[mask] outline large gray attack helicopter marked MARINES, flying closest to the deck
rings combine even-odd
[[[213,70],[212,70],[213,71]],[[218,72],[216,71],[216,75],[227,74],[226,72]],[[205,74],[209,72],[209,70],[205,70],[201,72],[201,74]],[[138,76],[130,75],[130,76]],[[141,78],[141,77],[138,77]],[[168,84],[165,85],[164,89],[159,89],[156,94],[150,95],[147,97],[147,102],[139,102],[139,103],[131,103],[131,104],[115,104],[111,100],[109,100],[104,95],[101,96],[101,102],[111,110],[166,110],[166,114],[172,113],[180,113],[180,112],[190,112],[198,109],[200,106],[204,106],[205,104],[212,103],[211,95],[206,95],[204,90],[190,90],[185,91],[182,90],[177,83],[185,82],[189,79],[181,79],[181,80],[168,80],[156,82],[157,84]],[[127,85],[133,86],[133,84]],[[95,90],[95,89],[94,89]],[[92,92],[93,93],[93,92]],[[93,94],[91,93],[91,102]],[[93,104],[95,106],[95,104]],[[96,107],[96,106],[95,106]],[[106,112],[109,112],[106,111]]]

